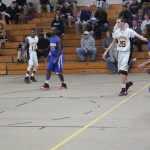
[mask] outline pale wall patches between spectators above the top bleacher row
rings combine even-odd
[[[7,6],[9,6],[11,4],[13,0],[3,0],[3,3],[5,3]],[[38,3],[38,0],[27,0],[28,2],[33,2],[35,4],[35,6]],[[56,0],[53,0],[56,1]],[[77,0],[78,1],[78,6],[85,6],[87,4],[89,5],[93,5],[93,3],[95,3],[96,0]],[[109,4],[121,4],[122,0],[107,0],[107,3]]]

